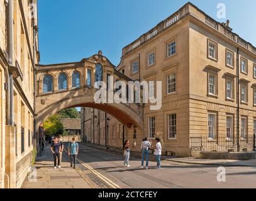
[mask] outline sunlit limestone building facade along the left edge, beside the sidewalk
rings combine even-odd
[[[21,187],[30,171],[34,134],[37,2],[0,2],[0,187]]]

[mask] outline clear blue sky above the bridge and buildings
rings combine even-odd
[[[181,8],[185,0],[39,0],[42,64],[78,62],[102,50],[118,65],[121,50]],[[191,0],[218,21],[218,3],[226,4],[233,31],[256,46],[255,0]]]

